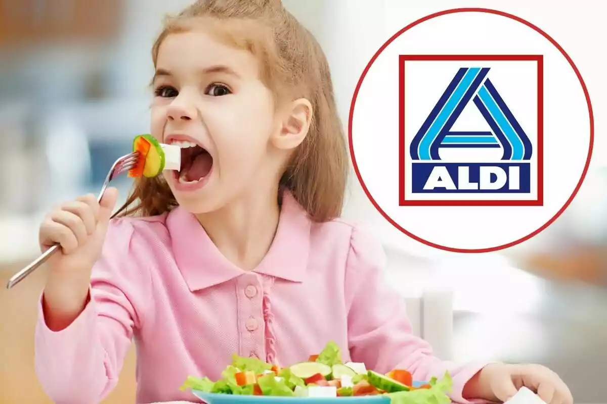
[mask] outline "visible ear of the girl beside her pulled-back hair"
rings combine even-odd
[[[304,141],[312,122],[312,104],[305,98],[291,102],[282,114],[280,131],[271,139],[274,147],[290,150]]]

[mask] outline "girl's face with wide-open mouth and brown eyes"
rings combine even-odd
[[[207,213],[277,183],[270,139],[281,125],[251,53],[189,31],[164,39],[156,65],[151,130],[182,148],[181,171],[164,171],[181,206]]]

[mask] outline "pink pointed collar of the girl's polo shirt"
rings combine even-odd
[[[166,225],[177,266],[192,292],[234,279],[246,271],[215,247],[194,214],[182,207],[169,213]],[[311,222],[291,193],[282,198],[279,223],[270,250],[253,271],[302,282],[308,266]]]

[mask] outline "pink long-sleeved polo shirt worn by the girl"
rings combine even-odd
[[[113,220],[91,280],[92,299],[66,329],[50,331],[42,306],[36,371],[57,404],[100,402],[117,383],[132,340],[137,403],[200,402],[188,375],[220,377],[234,353],[279,365],[307,360],[329,340],[344,360],[414,379],[453,376],[452,399],[485,363],[432,356],[411,333],[404,300],[384,282],[379,243],[341,220],[315,224],[290,194],[266,257],[253,271],[229,262],[182,208]]]

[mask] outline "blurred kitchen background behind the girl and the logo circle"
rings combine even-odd
[[[246,1],[246,0],[243,0]],[[98,192],[108,168],[148,131],[151,44],[164,13],[190,0],[0,0],[0,280],[36,256],[52,205]],[[422,3],[422,4],[418,4]],[[283,0],[324,46],[339,110],[368,59],[409,22],[458,1]],[[475,0],[548,31],[589,87],[595,144],[571,207],[534,239],[493,254],[449,254],[392,228],[353,178],[346,216],[384,240],[388,276],[404,294],[453,289],[456,360],[537,362],[566,380],[577,403],[605,403],[607,150],[605,2]],[[564,22],[577,21],[576,28]],[[117,181],[124,199],[131,182]],[[33,373],[33,325],[44,271],[0,288],[0,403],[49,402]],[[8,363],[8,365],[7,365]],[[106,403],[134,402],[134,354]]]

